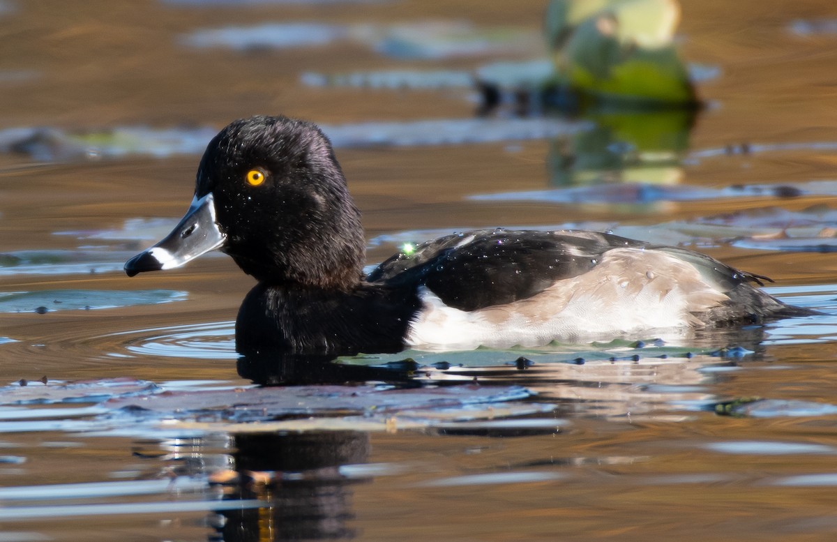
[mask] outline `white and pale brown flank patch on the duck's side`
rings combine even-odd
[[[531,298],[468,312],[422,289],[408,344],[424,349],[539,346],[700,327],[692,313],[728,299],[690,263],[655,250],[615,248],[601,262]]]

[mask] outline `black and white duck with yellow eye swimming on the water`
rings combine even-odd
[[[311,122],[258,115],[208,143],[193,201],[126,274],[219,250],[257,284],[239,353],[547,345],[812,314],[703,253],[587,230],[482,229],[405,246],[368,274],[361,213]]]

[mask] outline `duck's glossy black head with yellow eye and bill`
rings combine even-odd
[[[127,263],[128,273],[151,269],[143,267],[143,255],[159,260],[157,268],[197,256],[176,253],[176,245],[201,232],[196,220],[188,220],[201,207],[213,207],[204,216],[213,213],[209,222],[220,236],[209,236],[214,245],[206,250],[228,253],[261,282],[347,290],[362,276],[360,213],[331,143],[316,125],[254,116],[221,130],[201,159],[187,217],[169,238]]]

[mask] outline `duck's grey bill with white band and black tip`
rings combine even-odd
[[[143,271],[160,271],[180,267],[203,253],[219,248],[226,236],[215,222],[212,192],[196,196],[186,216],[160,243],[139,253],[125,264],[125,272],[133,277]]]

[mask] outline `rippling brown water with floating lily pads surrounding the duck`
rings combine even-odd
[[[834,539],[831,3],[683,0],[696,119],[482,124],[463,74],[529,77],[540,0],[205,4],[0,4],[0,542]],[[186,43],[265,25],[341,33]],[[332,128],[370,262],[467,228],[612,229],[825,314],[368,356],[317,373],[352,386],[261,391],[229,258],[120,268],[186,210],[202,138],[280,112]]]

